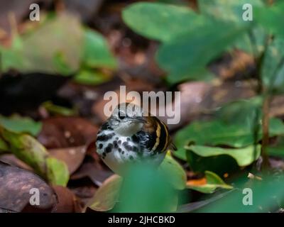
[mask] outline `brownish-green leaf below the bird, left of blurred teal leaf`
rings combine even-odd
[[[90,199],[87,207],[94,211],[109,211],[113,209],[119,199],[121,183],[122,177],[119,175],[112,175],[106,179],[94,194],[94,197]]]

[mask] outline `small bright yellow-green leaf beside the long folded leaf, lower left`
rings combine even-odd
[[[69,171],[65,162],[55,157],[47,157],[46,160],[47,176],[49,182],[53,185],[61,185],[66,187],[69,180]]]

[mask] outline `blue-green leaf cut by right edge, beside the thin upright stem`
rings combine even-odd
[[[263,85],[271,92],[284,92],[284,39],[274,38],[261,67]]]

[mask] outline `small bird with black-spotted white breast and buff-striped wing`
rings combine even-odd
[[[168,148],[176,150],[165,123],[143,113],[135,104],[119,104],[97,134],[97,153],[117,174],[135,162],[158,166]]]

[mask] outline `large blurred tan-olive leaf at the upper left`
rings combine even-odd
[[[68,25],[68,26],[66,26]],[[67,74],[80,67],[83,33],[76,16],[60,14],[35,31],[16,37],[11,49],[1,48],[3,70]]]

